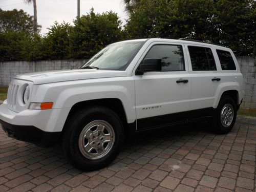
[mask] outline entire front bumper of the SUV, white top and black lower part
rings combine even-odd
[[[48,147],[60,138],[70,109],[14,112],[5,100],[0,105],[0,123],[9,137]]]

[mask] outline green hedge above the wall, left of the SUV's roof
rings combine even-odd
[[[92,9],[74,20],[74,27],[55,22],[44,37],[33,33],[31,18],[29,31],[0,31],[0,61],[90,58],[122,36],[121,21],[113,12],[95,14]]]

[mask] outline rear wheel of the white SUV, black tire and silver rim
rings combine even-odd
[[[234,99],[228,95],[221,97],[214,118],[212,129],[217,134],[227,134],[231,131],[237,118],[237,105]]]

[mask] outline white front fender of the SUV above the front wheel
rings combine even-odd
[[[54,102],[53,109],[71,109],[81,101],[116,98],[123,104],[127,122],[131,123],[136,119],[132,77],[67,81],[35,87],[31,102]]]

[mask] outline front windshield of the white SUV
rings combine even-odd
[[[143,42],[144,41],[122,41],[111,44],[94,55],[81,69],[95,68],[124,71]]]

